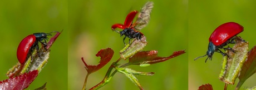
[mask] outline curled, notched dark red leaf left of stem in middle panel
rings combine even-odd
[[[114,55],[114,51],[111,48],[106,48],[106,49],[101,49],[96,56],[97,57],[101,57],[101,60],[99,62],[99,64],[97,66],[92,66],[92,65],[88,65],[82,57],[82,61],[85,64],[85,68],[86,71],[88,72],[88,74],[91,74],[97,70],[99,70],[100,68],[104,67],[107,63],[109,63],[109,61],[111,60],[111,58]]]

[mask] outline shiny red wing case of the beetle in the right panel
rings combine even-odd
[[[215,46],[220,46],[221,44],[228,41],[228,39],[236,36],[240,32],[243,32],[244,28],[238,23],[228,22],[221,24],[216,28],[209,38],[209,42],[213,42]]]

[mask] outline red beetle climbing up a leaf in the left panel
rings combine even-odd
[[[37,53],[38,53],[38,49],[39,49],[38,42],[42,43],[43,46],[47,46],[46,44],[46,40],[48,40],[47,36],[51,36],[51,34],[50,33],[34,33],[22,39],[17,49],[17,58],[19,63],[24,64],[26,59],[28,59],[28,57],[31,56],[31,53],[35,49],[37,49]],[[42,42],[43,40],[45,40],[45,42]]]

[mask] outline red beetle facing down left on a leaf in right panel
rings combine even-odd
[[[221,24],[218,28],[215,29],[215,31],[213,31],[213,33],[211,33],[211,36],[209,38],[208,51],[206,52],[206,54],[204,56],[197,57],[194,60],[201,57],[205,57],[206,55],[211,60],[214,52],[219,52],[223,56],[226,56],[225,53],[220,51],[220,48],[227,46],[227,44],[229,43],[234,43],[234,37],[243,31],[244,27],[235,22]],[[230,49],[233,52],[235,52],[232,48],[223,49]],[[205,62],[207,61],[208,58],[206,58]]]

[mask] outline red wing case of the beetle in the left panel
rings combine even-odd
[[[26,38],[22,39],[21,43],[19,43],[17,49],[17,58],[19,60],[19,63],[23,64],[26,61],[29,49],[33,45],[33,43],[35,43],[35,41],[36,37],[31,34]]]

